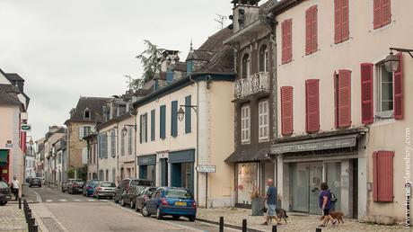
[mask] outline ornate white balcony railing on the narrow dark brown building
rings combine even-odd
[[[240,79],[233,83],[235,101],[248,98],[255,94],[269,94],[269,78],[267,72],[260,72]]]

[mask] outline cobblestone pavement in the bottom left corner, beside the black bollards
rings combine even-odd
[[[28,231],[24,212],[17,204],[0,206],[0,231]]]

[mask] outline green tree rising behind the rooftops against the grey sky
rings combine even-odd
[[[137,59],[141,62],[144,67],[144,73],[141,78],[132,81],[131,85],[136,90],[141,88],[145,82],[152,80],[154,74],[158,69],[158,58],[161,57],[163,49],[159,49],[158,46],[154,45],[149,40],[144,40],[146,49],[138,56]]]

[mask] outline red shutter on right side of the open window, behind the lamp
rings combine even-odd
[[[393,103],[394,103],[394,118],[396,120],[403,119],[403,56],[401,52],[396,54],[400,59],[399,68],[394,73],[394,90],[393,90]]]

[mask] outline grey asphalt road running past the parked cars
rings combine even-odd
[[[71,195],[48,187],[31,188],[26,194],[40,201],[31,208],[49,231],[218,231],[215,225],[189,222],[186,218],[144,218],[111,200]]]

